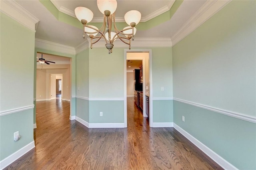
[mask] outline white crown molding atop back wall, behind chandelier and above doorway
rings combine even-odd
[[[90,38],[87,38],[90,42]],[[106,41],[104,39],[99,40],[97,43],[92,45],[92,48],[103,48]],[[123,43],[121,40],[117,39],[114,43],[114,47],[123,47],[128,48],[129,45]],[[88,43],[90,46],[90,43]],[[172,47],[172,41],[170,38],[134,38],[134,41],[131,41],[131,47]]]

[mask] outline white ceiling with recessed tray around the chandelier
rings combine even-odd
[[[51,0],[56,8],[73,12],[77,6],[90,8],[94,17],[102,17],[98,10],[96,0]],[[16,1],[33,16],[40,20],[36,30],[36,38],[50,42],[60,43],[71,47],[76,47],[84,40],[81,29],[58,21],[44,5],[38,0],[18,0]],[[173,0],[118,0],[116,17],[123,18],[128,10],[138,10],[142,18],[150,15],[160,14],[161,11],[168,10],[173,4]],[[206,0],[184,0],[172,18],[158,26],[144,31],[137,31],[135,38],[172,38],[191,16],[200,9]],[[145,5],[146,4],[146,5]],[[72,14],[70,14],[72,15]]]

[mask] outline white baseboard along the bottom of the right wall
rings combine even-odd
[[[219,164],[222,168],[226,170],[238,170],[235,166],[230,164],[228,161],[226,161],[224,158],[222,158],[220,155],[218,155],[216,152],[208,148],[206,145],[204,145],[202,142],[194,138],[191,134],[183,130],[181,127],[173,124],[174,128],[178,130],[183,136],[185,136],[190,142],[192,142],[194,145],[196,145],[200,150],[202,150],[207,156],[209,156],[214,162]]]

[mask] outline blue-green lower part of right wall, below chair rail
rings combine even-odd
[[[174,101],[174,123],[236,168],[256,169],[255,123],[178,101]]]

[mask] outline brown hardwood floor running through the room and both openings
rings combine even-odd
[[[128,128],[87,128],[69,120],[70,103],[36,103],[36,147],[5,169],[222,169],[174,128],[150,128],[128,97]]]

